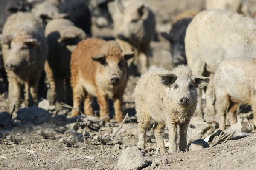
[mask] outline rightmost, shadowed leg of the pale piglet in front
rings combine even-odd
[[[190,122],[190,119],[184,122],[182,125],[180,125],[180,143],[179,143],[180,151],[188,150],[186,136],[187,136],[189,122]]]

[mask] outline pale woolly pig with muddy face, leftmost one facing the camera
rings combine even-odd
[[[38,81],[47,59],[48,45],[40,18],[30,12],[12,14],[0,35],[3,61],[8,76],[9,111],[20,108],[22,85],[24,103],[32,106],[37,101]]]

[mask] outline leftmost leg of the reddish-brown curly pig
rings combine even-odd
[[[79,109],[82,99],[84,98],[84,86],[77,82],[73,86],[73,108]],[[72,109],[71,116],[78,116],[80,113],[78,110]]]

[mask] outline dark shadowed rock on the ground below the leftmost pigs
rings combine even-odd
[[[30,108],[19,109],[17,111],[17,119],[21,120],[23,124],[43,124],[44,122],[50,122],[52,116],[48,111],[33,106]]]

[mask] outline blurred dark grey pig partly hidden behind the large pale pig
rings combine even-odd
[[[187,64],[184,40],[186,28],[192,19],[193,18],[183,18],[177,20],[176,23],[172,24],[169,34],[165,32],[161,33],[162,37],[168,40],[170,43],[172,63],[174,67],[180,64]]]

